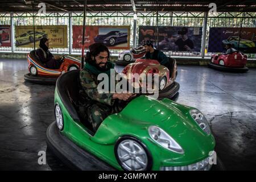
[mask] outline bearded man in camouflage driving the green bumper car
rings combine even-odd
[[[110,69],[114,64],[109,61],[109,49],[102,43],[94,43],[89,46],[86,53],[85,67],[80,71],[80,83],[85,96],[89,98],[90,104],[84,108],[88,121],[96,131],[101,122],[113,113],[123,109],[124,104],[119,101],[128,101],[135,95],[130,93],[99,93],[97,86],[100,81],[97,77],[100,73],[106,73],[110,78]],[[118,109],[114,107],[117,105]]]

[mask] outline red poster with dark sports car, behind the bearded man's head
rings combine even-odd
[[[73,26],[73,48],[82,48],[82,26]],[[130,26],[86,26],[85,48],[101,42],[110,49],[130,49]]]

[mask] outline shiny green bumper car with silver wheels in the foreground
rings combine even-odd
[[[209,170],[215,140],[197,109],[138,96],[109,115],[96,133],[77,112],[79,71],[60,76],[48,146],[70,167],[88,170]],[[81,101],[80,101],[81,102]],[[56,124],[57,125],[56,125]]]

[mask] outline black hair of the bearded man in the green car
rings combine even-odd
[[[96,63],[95,57],[104,51],[108,52],[108,60],[109,60],[109,57],[110,57],[109,49],[103,43],[94,43],[90,45],[89,52],[86,52],[86,57],[85,57],[86,63],[95,64]],[[94,60],[92,59],[92,57],[94,57]]]

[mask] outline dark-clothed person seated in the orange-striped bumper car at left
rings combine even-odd
[[[60,56],[53,56],[49,51],[49,40],[47,38],[40,39],[39,48],[36,49],[36,57],[38,57],[43,64],[46,64],[47,68],[60,68]]]

